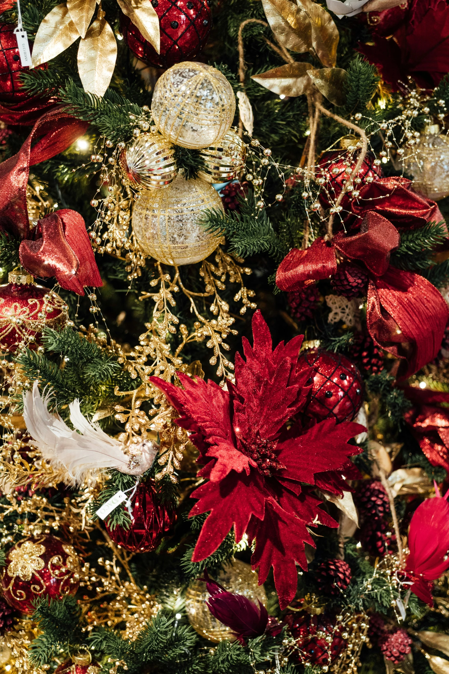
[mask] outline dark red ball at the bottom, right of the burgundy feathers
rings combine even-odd
[[[304,665],[330,665],[346,646],[338,629],[325,614],[310,615],[306,611],[287,613],[285,622],[295,639],[293,658]],[[324,636],[316,636],[317,632]],[[326,637],[331,642],[326,642]],[[329,655],[331,656],[329,658]]]

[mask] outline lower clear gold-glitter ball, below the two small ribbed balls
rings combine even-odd
[[[133,208],[133,230],[147,255],[164,264],[192,264],[213,253],[221,237],[198,222],[207,208],[223,210],[212,185],[178,175],[167,189],[141,193]]]

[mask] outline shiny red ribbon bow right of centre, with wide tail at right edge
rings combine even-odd
[[[390,251],[400,243],[396,228],[370,211],[360,233],[316,239],[310,248],[293,248],[276,274],[281,290],[298,290],[337,272],[336,251],[366,266],[370,274],[367,326],[374,342],[407,363],[401,377],[410,377],[434,359],[448,321],[448,307],[427,279],[390,266]]]

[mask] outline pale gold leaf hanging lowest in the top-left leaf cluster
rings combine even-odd
[[[98,9],[96,20],[79,42],[78,72],[85,91],[104,96],[114,72],[116,57],[114,32],[104,18],[104,11]]]

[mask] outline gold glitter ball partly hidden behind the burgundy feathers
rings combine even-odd
[[[238,592],[243,594],[251,601],[257,604],[257,600],[267,605],[267,595],[263,585],[258,586],[258,576],[252,571],[249,564],[245,564],[240,559],[235,559],[232,564],[226,566],[219,573],[217,581],[228,592]],[[230,627],[225,627],[223,623],[213,617],[206,605],[209,599],[205,582],[194,580],[187,588],[186,592],[186,611],[188,621],[193,629],[201,636],[215,643],[224,639],[231,640],[232,632]]]

